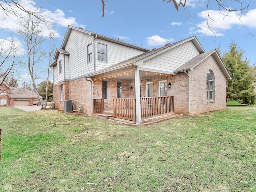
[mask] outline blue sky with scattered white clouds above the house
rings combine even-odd
[[[210,2],[214,34],[207,26],[206,1],[188,0],[186,11],[182,6],[177,11],[173,3],[167,1],[108,0],[104,18],[101,0],[51,0],[40,1],[40,4],[27,1],[26,7],[32,10],[43,5],[44,14],[56,22],[56,48],[60,48],[67,26],[71,25],[148,49],[196,36],[206,51],[220,46],[223,53],[229,50],[228,45],[233,40],[246,52],[250,64],[256,63],[256,38],[248,37],[248,33],[256,36],[256,4],[249,6],[246,12],[231,12],[225,17],[226,12],[218,11],[216,1]],[[12,34],[17,42],[22,42],[15,34],[16,24],[5,21],[1,26],[1,39],[8,39]]]

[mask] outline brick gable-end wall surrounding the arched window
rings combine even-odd
[[[207,101],[206,75],[214,74],[214,101]],[[192,115],[226,109],[226,78],[212,56],[196,66],[190,74],[190,112]]]

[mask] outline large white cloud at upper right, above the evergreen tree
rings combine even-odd
[[[256,22],[253,22],[256,20],[256,9],[242,15],[240,12],[222,11],[220,13],[218,10],[209,10],[208,13],[206,11],[198,13],[198,16],[204,21],[196,24],[197,28],[190,28],[190,34],[202,33],[208,36],[222,36],[225,34],[225,30],[241,26],[256,28]]]

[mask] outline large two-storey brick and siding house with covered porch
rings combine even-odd
[[[206,52],[195,36],[148,50],[73,26],[50,67],[55,108],[137,123],[226,109],[231,79],[216,50]]]

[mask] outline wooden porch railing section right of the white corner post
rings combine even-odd
[[[141,118],[174,112],[174,96],[140,98]]]

